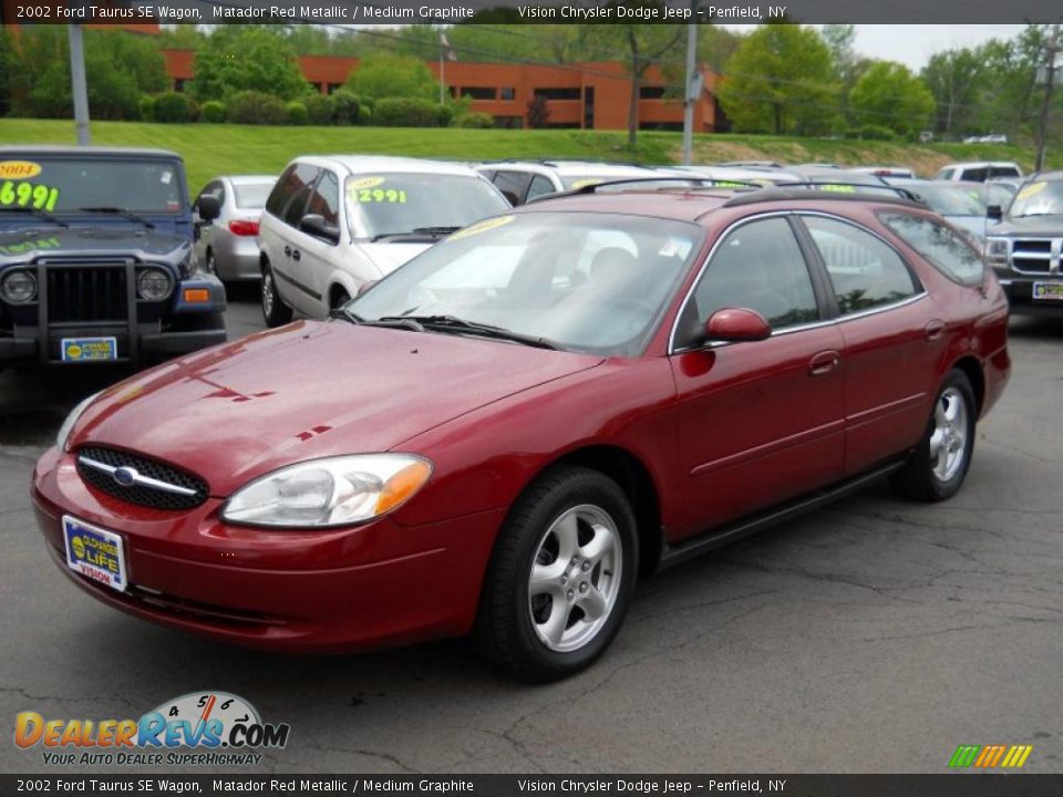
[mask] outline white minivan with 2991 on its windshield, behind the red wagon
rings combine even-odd
[[[296,158],[259,222],[262,315],[327,318],[359,289],[441,238],[509,208],[458,164],[333,155]]]

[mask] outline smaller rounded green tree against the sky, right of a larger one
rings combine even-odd
[[[911,135],[929,124],[933,95],[904,64],[878,61],[853,86],[849,106],[857,124]]]

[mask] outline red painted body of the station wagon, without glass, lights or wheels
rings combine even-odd
[[[950,281],[878,220],[875,201],[724,206],[730,196],[626,193],[517,211],[703,226],[703,249],[641,356],[297,322],[115,385],[75,424],[71,452],[96,444],[142,453],[200,476],[210,497],[187,511],[128,504],[89,487],[73,454],[52,448],[33,473],[49,548],[112,605],[242,644],[341,651],[460,635],[473,625],[507,508],[559,459],[632,474],[652,565],[662,548],[902,455],[957,364],[974,376],[980,414],[994,404],[1010,361],[1007,300],[991,270],[981,286]],[[723,231],[795,207],[888,240],[927,293],[794,334],[670,354],[681,302]],[[278,467],[385,451],[427,457],[433,474],[375,521],[277,531],[219,519],[234,490]],[[123,536],[135,589],[123,594],[65,567],[64,514]]]

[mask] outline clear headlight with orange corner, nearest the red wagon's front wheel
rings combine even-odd
[[[402,506],[431,475],[432,464],[412,454],[312,459],[241,487],[221,507],[221,518],[279,528],[349,526]]]

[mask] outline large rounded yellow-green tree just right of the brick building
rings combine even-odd
[[[720,102],[735,131],[815,135],[838,112],[830,51],[813,28],[758,27],[724,68]]]

